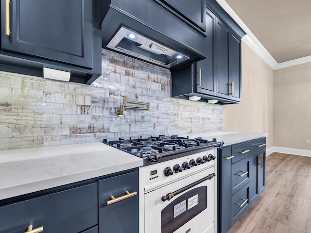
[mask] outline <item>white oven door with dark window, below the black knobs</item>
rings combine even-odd
[[[214,233],[215,178],[191,186],[215,172],[202,170],[145,194],[145,233]],[[168,193],[185,188],[171,200]]]

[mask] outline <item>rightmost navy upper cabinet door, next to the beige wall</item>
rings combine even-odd
[[[232,31],[229,37],[229,84],[229,98],[241,101],[241,39]]]

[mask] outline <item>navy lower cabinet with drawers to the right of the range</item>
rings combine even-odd
[[[265,189],[262,137],[218,149],[218,233],[226,233]]]

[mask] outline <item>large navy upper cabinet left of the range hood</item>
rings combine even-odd
[[[96,1],[11,0],[7,12],[6,0],[1,0],[1,53],[12,60],[7,65],[38,76],[43,67],[70,71],[70,81],[91,83],[101,73],[101,33],[93,3]],[[5,32],[6,27],[10,33]],[[14,60],[17,57],[22,59],[20,65]]]

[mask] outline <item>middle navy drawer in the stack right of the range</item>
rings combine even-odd
[[[250,181],[250,160],[248,158],[242,159],[239,162],[233,164],[231,169],[231,195],[233,195]]]

